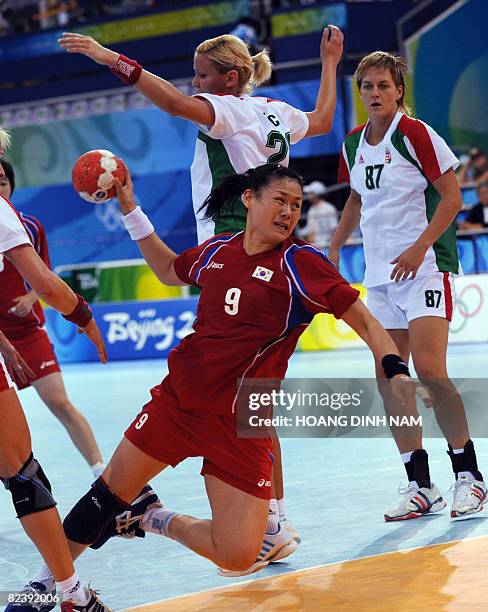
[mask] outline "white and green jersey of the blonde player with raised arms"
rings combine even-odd
[[[212,189],[224,177],[266,162],[288,166],[290,144],[305,136],[308,117],[285,102],[259,96],[198,94],[198,97],[208,100],[215,112],[212,127],[198,125],[191,166],[193,209],[201,244],[220,229],[199,212]]]

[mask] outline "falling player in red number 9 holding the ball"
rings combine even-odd
[[[242,197],[245,231],[219,234],[179,256],[135,206],[128,171],[127,177],[125,186],[117,183],[125,226],[161,282],[201,288],[197,319],[194,333],[171,351],[168,376],[151,390],[106,470],[66,517],[65,532],[74,555],[80,554],[103,537],[146,482],[168,465],[200,456],[211,520],[164,507],[132,520],[221,568],[258,571],[289,534],[278,519],[267,523],[271,439],[237,435],[237,381],[284,378],[301,333],[316,313],[326,312],[364,338],[399,403],[414,401],[414,385],[358,291],[319,249],[292,237],[302,207],[302,181],[295,172],[265,164],[224,179],[207,200],[206,213]]]

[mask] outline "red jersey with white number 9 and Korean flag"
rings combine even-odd
[[[194,333],[168,357],[182,408],[234,412],[238,380],[284,378],[314,315],[340,318],[359,296],[315,246],[288,238],[247,255],[243,237],[214,236],[175,260],[178,277],[202,291]]]

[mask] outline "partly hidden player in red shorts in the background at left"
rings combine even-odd
[[[10,200],[15,189],[12,165],[0,160],[0,195]],[[33,216],[19,213],[19,218],[37,254],[51,268],[47,237],[41,223]],[[45,316],[37,293],[17,268],[0,255],[0,330],[19,351],[34,371],[34,379],[14,378],[17,388],[32,385],[49,410],[68,431],[76,448],[90,466],[95,478],[103,472],[102,455],[86,418],[70,402],[63,383],[54,348],[45,331]]]

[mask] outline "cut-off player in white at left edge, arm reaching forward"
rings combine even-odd
[[[0,128],[0,155],[9,144],[9,135]],[[3,177],[0,165],[0,177]],[[8,258],[38,295],[56,308],[68,321],[83,329],[97,347],[100,359],[106,361],[105,346],[89,306],[80,296],[53,274],[32,247],[27,232],[10,203],[0,196],[0,255]],[[7,355],[24,381],[34,373],[5,336],[0,333],[0,351]],[[23,375],[24,368],[28,377]],[[12,379],[0,354],[0,480],[10,491],[17,516],[27,535],[51,568],[62,591],[63,612],[108,611],[91,589],[81,585],[74,570],[64,536],[51,485],[39,462],[34,458],[29,427],[22,406],[13,389]],[[21,610],[26,602],[50,610],[56,604],[53,594],[27,585],[20,593],[10,594],[7,610]],[[48,607],[43,607],[43,604]]]

